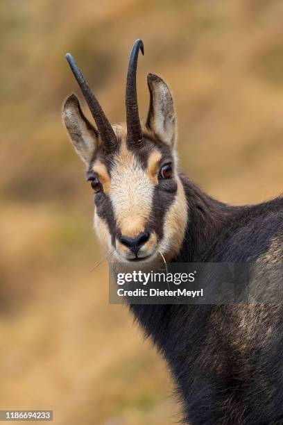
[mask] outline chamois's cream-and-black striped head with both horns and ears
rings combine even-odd
[[[63,119],[94,190],[94,228],[114,260],[171,259],[180,250],[187,224],[187,202],[178,176],[175,110],[162,78],[148,74],[150,106],[145,124],[137,106],[136,40],[130,53],[126,83],[126,126],[111,126],[80,69],[67,60],[80,85],[95,128],[75,94],[65,101]]]

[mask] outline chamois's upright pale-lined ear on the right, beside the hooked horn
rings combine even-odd
[[[177,138],[176,116],[173,98],[162,78],[148,74],[151,101],[146,126],[162,142],[173,147]]]

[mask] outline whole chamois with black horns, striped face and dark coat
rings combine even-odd
[[[74,58],[67,60],[97,129],[75,94],[63,119],[94,191],[94,227],[112,259],[168,263],[280,264],[283,198],[234,207],[212,199],[179,172],[171,92],[148,74],[150,106],[137,106],[136,40],[126,81],[126,125],[111,126]],[[275,285],[282,279],[271,276]],[[184,422],[283,424],[282,304],[130,305],[168,363]]]

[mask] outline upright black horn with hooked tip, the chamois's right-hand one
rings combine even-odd
[[[142,40],[135,40],[128,66],[127,85],[126,85],[126,117],[128,142],[137,148],[144,144],[139,121],[139,108],[137,106],[137,57],[139,50],[144,54],[144,44]]]

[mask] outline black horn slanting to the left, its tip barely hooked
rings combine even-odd
[[[106,150],[112,151],[117,146],[117,138],[114,130],[106,118],[105,113],[99,105],[96,97],[92,93],[92,90],[90,90],[89,85],[85,81],[85,78],[83,78],[83,74],[76,64],[73,56],[71,56],[71,53],[67,53],[66,58],[70,65],[71,71],[73,72],[76,81],[80,86],[80,90],[83,92],[85,100],[87,101],[87,105],[89,106],[89,110],[92,113],[92,117],[94,117],[98,132],[101,135],[101,139],[103,141],[103,146]]]

